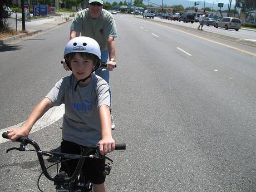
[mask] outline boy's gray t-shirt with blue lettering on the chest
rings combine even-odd
[[[102,138],[99,109],[102,105],[110,107],[110,93],[107,82],[92,74],[91,82],[77,86],[73,75],[63,77],[47,94],[53,106],[65,104],[62,137],[78,145],[96,145]]]

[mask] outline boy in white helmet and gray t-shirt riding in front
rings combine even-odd
[[[90,37],[75,37],[67,43],[64,58],[72,75],[58,81],[24,125],[7,131],[8,137],[13,141],[21,136],[27,137],[32,126],[46,111],[52,106],[65,104],[61,151],[80,154],[86,146],[99,144],[100,153],[106,155],[114,151],[115,141],[111,134],[109,86],[93,74],[101,63],[100,46]],[[85,173],[89,173],[87,176],[93,183],[94,191],[105,192],[105,176],[102,174],[105,160],[85,162]],[[73,174],[76,164],[67,163]],[[62,165],[61,170],[67,171],[67,168]]]

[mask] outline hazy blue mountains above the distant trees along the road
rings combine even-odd
[[[113,3],[113,2],[119,3],[120,1],[124,2],[125,0],[105,0],[105,1],[109,3]],[[134,2],[133,0],[130,0],[130,1]],[[130,1],[126,0],[127,3]],[[156,6],[156,5],[161,6],[162,0],[143,0],[143,3],[145,5],[152,3],[153,6]],[[195,6],[194,3],[195,3],[194,1],[187,1],[187,0],[163,0],[163,4],[166,4],[167,6],[170,6],[170,7],[178,4],[182,4],[184,8],[193,7]],[[204,1],[196,1],[196,3],[199,3],[199,5],[196,6],[199,9],[204,8]],[[209,7],[209,8],[213,7],[214,9],[219,9],[218,2],[214,2],[214,6],[213,6],[213,3],[205,2],[205,7]],[[228,4],[224,4],[224,6],[221,8],[221,10],[227,10],[227,9],[228,9]],[[234,4],[232,4],[231,9],[234,9]]]

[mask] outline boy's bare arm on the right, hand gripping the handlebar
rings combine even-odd
[[[112,138],[110,107],[102,105],[100,107],[100,123],[102,139],[99,141],[101,155],[115,150],[115,140]]]

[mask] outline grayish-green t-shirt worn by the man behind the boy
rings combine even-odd
[[[95,39],[101,51],[107,50],[107,37],[117,37],[116,24],[112,14],[102,9],[101,15],[97,19],[92,19],[89,9],[83,9],[75,16],[70,30],[81,32],[81,36]]]

